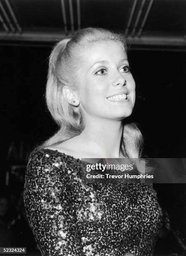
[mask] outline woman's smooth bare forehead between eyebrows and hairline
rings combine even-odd
[[[116,41],[106,41],[90,44],[83,49],[81,56],[86,65],[97,61],[120,61],[127,59],[124,47]]]

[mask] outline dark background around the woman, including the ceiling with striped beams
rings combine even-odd
[[[0,0],[1,247],[40,255],[23,184],[30,152],[57,130],[45,106],[48,57],[88,26],[126,36],[144,155],[186,158],[186,0]],[[164,212],[154,255],[186,255],[186,184],[154,187]]]

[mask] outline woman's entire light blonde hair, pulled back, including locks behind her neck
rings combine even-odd
[[[103,28],[84,28],[73,37],[60,41],[50,54],[48,81],[46,86],[46,103],[58,131],[40,148],[55,146],[82,133],[85,128],[80,108],[70,105],[64,98],[62,88],[68,86],[77,90],[78,80],[75,70],[80,65],[79,52],[83,48],[102,41],[116,41],[126,51],[125,38]],[[123,123],[121,151],[125,157],[141,156],[143,138],[135,123]]]

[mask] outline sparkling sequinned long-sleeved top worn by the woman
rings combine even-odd
[[[84,184],[83,165],[57,150],[30,155],[25,209],[42,255],[152,255],[162,221],[152,186]]]

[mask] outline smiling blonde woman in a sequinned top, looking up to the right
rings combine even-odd
[[[162,213],[147,184],[84,184],[82,158],[138,158],[123,36],[85,28],[50,55],[48,109],[59,131],[33,152],[25,208],[42,255],[152,255]]]

